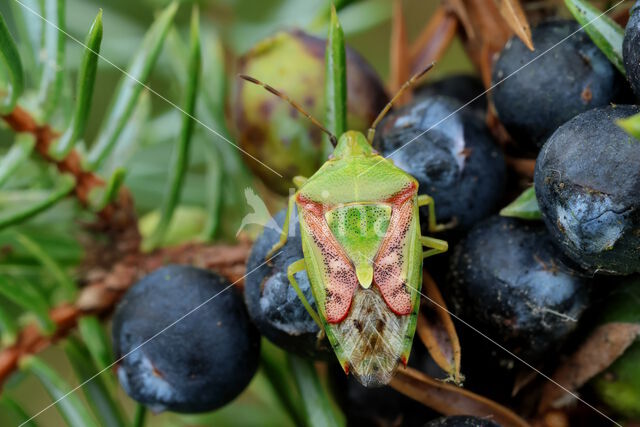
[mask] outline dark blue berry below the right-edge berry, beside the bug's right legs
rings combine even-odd
[[[535,362],[587,307],[589,279],[569,264],[543,224],[495,216],[456,245],[445,293],[462,319]]]

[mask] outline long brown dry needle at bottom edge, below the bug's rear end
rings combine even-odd
[[[446,384],[412,368],[398,369],[391,387],[444,414],[487,417],[503,427],[529,427],[513,411],[486,397]]]

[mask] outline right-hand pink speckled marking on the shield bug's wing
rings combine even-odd
[[[382,298],[391,311],[399,316],[413,310],[411,295],[402,279],[404,259],[403,247],[411,226],[413,197],[417,191],[415,183],[394,195],[387,236],[385,237],[373,266],[373,281],[380,289]]]

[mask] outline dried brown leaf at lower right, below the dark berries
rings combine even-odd
[[[591,378],[607,369],[640,337],[640,325],[612,322],[599,326],[553,374],[553,380],[569,391],[576,391]],[[567,403],[567,393],[557,385],[546,383],[538,413]]]

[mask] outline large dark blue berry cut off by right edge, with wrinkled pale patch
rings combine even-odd
[[[618,105],[582,113],[536,161],[536,196],[551,236],[591,272],[640,272],[640,141],[616,124],[638,112]]]

